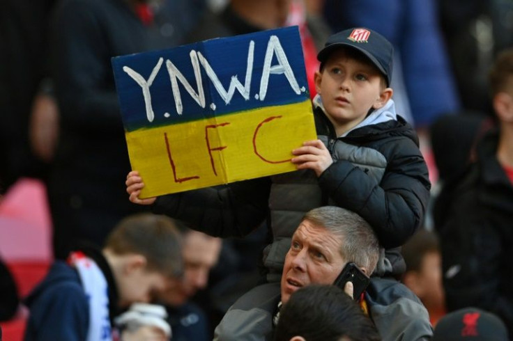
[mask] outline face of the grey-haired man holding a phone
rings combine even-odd
[[[331,284],[346,264],[337,235],[304,220],[292,236],[282,273],[282,302],[300,287]]]

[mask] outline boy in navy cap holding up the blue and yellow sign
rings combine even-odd
[[[390,42],[369,29],[328,38],[314,77],[319,139],[293,150],[299,171],[142,200],[144,183],[132,171],[130,200],[220,237],[247,235],[270,216],[274,240],[263,257],[270,282],[280,281],[293,231],[315,207],[349,209],[372,225],[384,248],[401,246],[422,222],[431,185],[415,131],[391,100],[392,55]],[[395,251],[376,274],[403,271]]]

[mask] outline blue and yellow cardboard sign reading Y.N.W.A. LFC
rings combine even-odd
[[[297,26],[112,58],[141,198],[296,170],[316,138]]]

